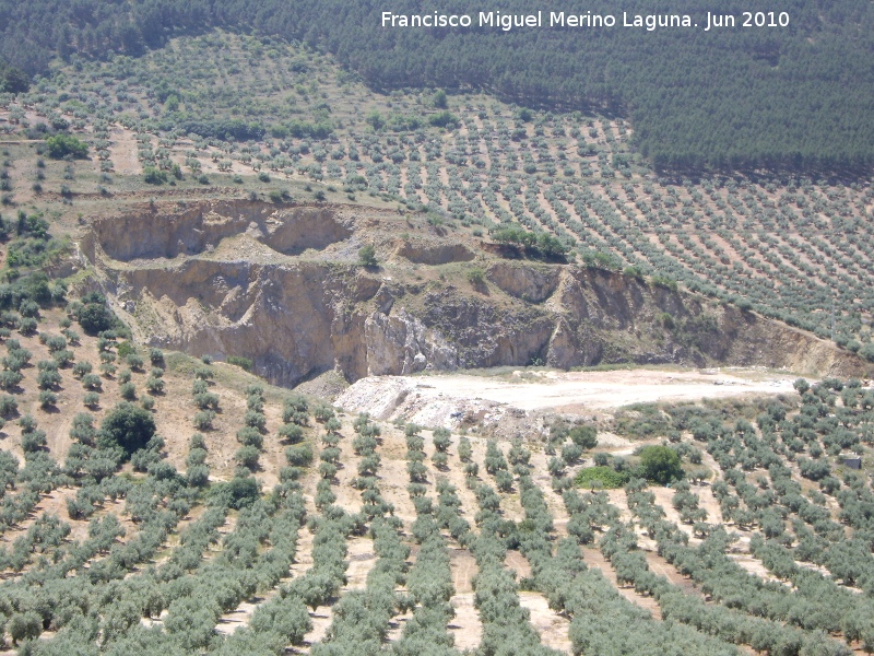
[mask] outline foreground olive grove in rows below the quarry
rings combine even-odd
[[[859,380],[496,442],[82,336],[84,309],[2,317],[7,648],[874,647]]]

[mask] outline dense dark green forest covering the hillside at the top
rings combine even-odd
[[[779,8],[724,0],[682,7],[638,0],[622,8],[569,1],[543,11],[612,16],[616,26],[480,25],[481,12],[512,19],[535,9],[512,0],[472,11],[456,1],[437,13],[468,15],[471,27],[392,28],[382,26],[387,8],[368,2],[7,1],[0,3],[0,55],[32,74],[55,56],[138,57],[172,35],[222,27],[331,52],[375,89],[474,89],[529,107],[622,116],[659,169],[857,176],[871,169],[874,10],[865,0],[792,0]],[[390,8],[406,16],[423,10],[430,15],[411,0]],[[706,32],[711,14],[731,16],[733,26]],[[658,24],[670,15],[687,15],[690,26],[642,26],[645,19]],[[640,27],[623,26],[635,16]],[[7,77],[7,86],[19,89],[20,75]]]

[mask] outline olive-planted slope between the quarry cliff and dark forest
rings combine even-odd
[[[622,120],[475,94],[382,96],[327,57],[222,33],[60,69],[3,106],[9,203],[71,218],[126,198],[311,192],[504,241],[519,237],[504,229],[542,231],[583,261],[678,281],[874,356],[866,181],[659,178]],[[81,133],[92,160],[35,165],[40,125]]]

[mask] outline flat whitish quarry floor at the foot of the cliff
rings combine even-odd
[[[747,395],[792,393],[798,376],[756,368],[484,370],[369,376],[338,397],[335,403],[376,419],[458,427],[464,423],[501,423],[544,413],[597,417],[633,403],[698,401]]]

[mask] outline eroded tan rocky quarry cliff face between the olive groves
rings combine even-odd
[[[330,370],[355,380],[532,363],[863,370],[810,335],[617,273],[482,254],[465,263],[475,246],[433,236],[399,246],[393,221],[329,207],[203,203],[96,221],[81,250],[140,339],[249,358],[283,385]],[[388,256],[379,270],[355,266],[364,243]],[[427,261],[462,273],[480,266],[488,283],[441,280],[442,270],[411,279]]]

